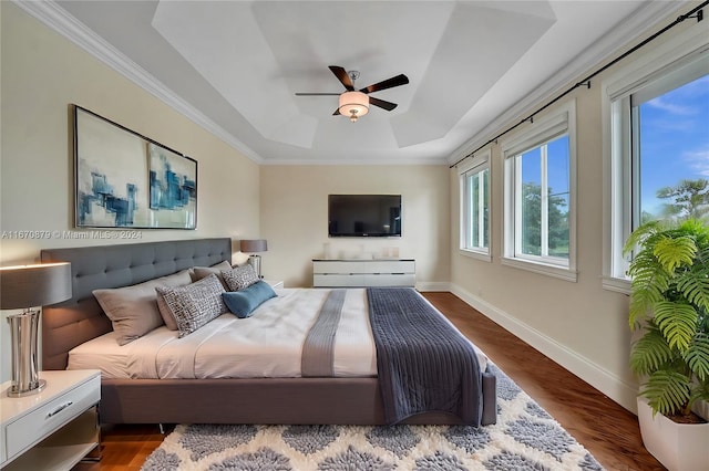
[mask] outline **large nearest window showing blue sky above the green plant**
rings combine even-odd
[[[629,291],[623,245],[643,222],[709,223],[709,53],[706,38],[693,42],[679,38],[604,81],[606,289]]]

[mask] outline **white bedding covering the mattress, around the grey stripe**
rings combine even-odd
[[[165,326],[120,346],[111,332],[73,348],[68,369],[97,368],[104,378],[300,377],[300,352],[329,290],[280,289],[248,318],[223,314],[177,337]],[[480,367],[487,358],[475,347]],[[347,291],[335,337],[335,376],[377,376],[367,293]]]

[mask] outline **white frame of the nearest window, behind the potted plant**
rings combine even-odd
[[[623,247],[638,223],[640,188],[637,149],[637,118],[633,95],[646,95],[681,86],[684,77],[697,69],[709,67],[707,25],[697,24],[648,54],[619,67],[602,81],[604,143],[604,239],[603,275],[605,290],[630,293],[626,275],[629,260]],[[667,83],[672,86],[668,87]],[[655,91],[655,92],[650,92]],[[640,98],[643,100],[643,98]],[[634,126],[636,127],[634,129]]]

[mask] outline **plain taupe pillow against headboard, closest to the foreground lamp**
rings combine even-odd
[[[163,325],[155,289],[189,284],[189,272],[183,270],[168,276],[148,280],[132,286],[94,290],[93,295],[106,313],[119,345],[125,345]]]

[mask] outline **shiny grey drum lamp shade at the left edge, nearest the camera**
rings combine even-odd
[[[71,263],[0,268],[0,308],[19,310],[71,297]]]

